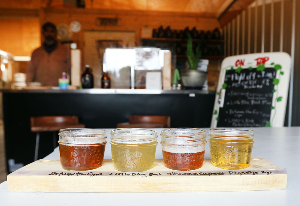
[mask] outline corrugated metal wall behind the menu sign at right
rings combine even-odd
[[[223,32],[225,56],[278,51],[291,55],[285,126],[300,126],[300,0],[256,0]]]

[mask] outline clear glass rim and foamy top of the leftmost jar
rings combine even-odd
[[[106,131],[99,129],[74,128],[59,130],[59,143],[90,145],[106,142]]]

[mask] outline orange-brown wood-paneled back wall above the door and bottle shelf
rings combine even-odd
[[[186,26],[196,26],[199,30],[220,27],[216,18],[202,18],[191,13],[45,8],[41,10],[40,15],[41,24],[50,21],[56,25],[69,25],[73,20],[79,21],[82,29],[78,33],[72,33],[71,40],[77,43],[81,51],[84,50],[84,31],[135,31],[136,45],[139,46],[141,29],[145,27],[170,25],[172,29],[184,29]],[[117,26],[99,26],[96,24],[99,17],[118,18],[119,22]],[[82,59],[82,65],[84,64],[86,62]]]

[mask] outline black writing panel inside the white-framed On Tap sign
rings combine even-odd
[[[270,121],[275,76],[274,68],[227,70],[217,126],[264,127]]]

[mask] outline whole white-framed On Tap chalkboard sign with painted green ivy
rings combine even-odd
[[[225,58],[211,127],[282,127],[289,74],[284,52]]]

